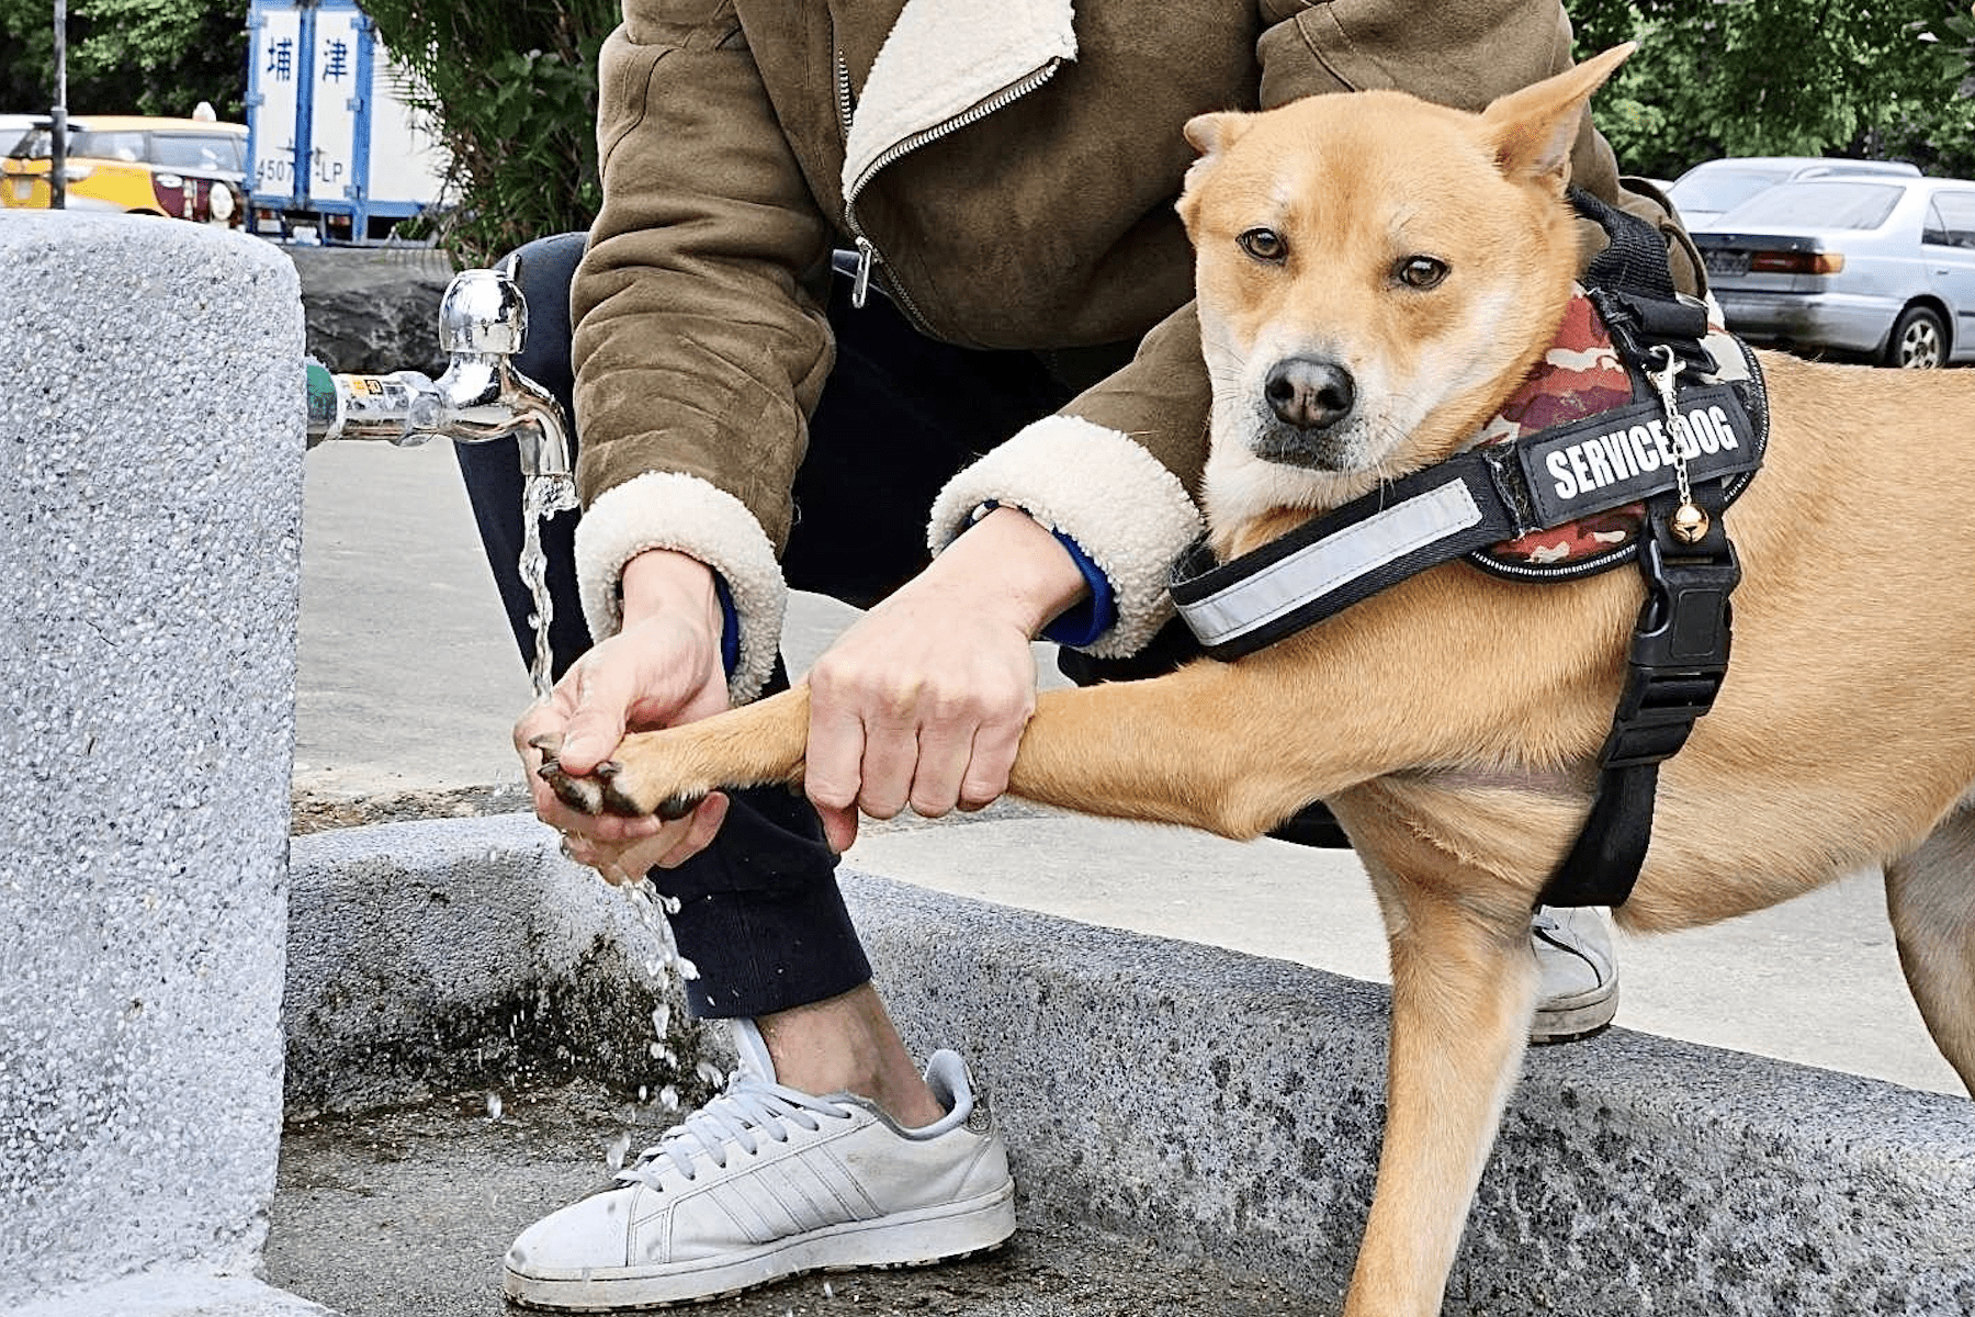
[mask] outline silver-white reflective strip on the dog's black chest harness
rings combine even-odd
[[[1450,480],[1305,545],[1252,577],[1179,604],[1179,612],[1203,646],[1226,644],[1479,521],[1481,507],[1473,494],[1463,482]]]

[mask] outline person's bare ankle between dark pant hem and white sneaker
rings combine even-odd
[[[754,1023],[774,1060],[776,1082],[788,1088],[869,1098],[907,1129],[946,1114],[869,983]]]

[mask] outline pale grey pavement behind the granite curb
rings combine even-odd
[[[849,612],[802,598],[800,669]],[[494,600],[452,454],[308,456],[296,784],[367,796],[515,782],[527,677]],[[867,829],[851,863],[1116,928],[1384,977],[1349,853],[1011,810]],[[1620,1023],[1914,1088],[1963,1092],[1906,997],[1876,875],[1708,930],[1621,940]]]

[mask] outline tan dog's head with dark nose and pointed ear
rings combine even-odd
[[[1223,543],[1450,456],[1515,389],[1578,267],[1584,105],[1631,49],[1481,115],[1369,91],[1187,124]]]

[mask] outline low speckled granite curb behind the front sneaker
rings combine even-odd
[[[656,938],[545,837],[521,817],[294,841],[290,1106],[296,1086],[322,1102],[332,1070],[350,1084],[361,1021],[417,1035],[476,1009],[476,985],[587,999],[563,1062],[602,1058],[581,1054],[596,1027],[634,1066],[602,1076],[650,1082],[630,1041],[652,1037],[644,999],[624,993]],[[988,1084],[1027,1218],[1254,1268],[1335,1311],[1382,1125],[1382,987],[849,871],[843,887],[907,1041],[960,1048]],[[361,971],[330,1003],[310,962]],[[421,1064],[436,1082],[446,1046]],[[1537,1050],[1448,1311],[1975,1311],[1975,1106],[1620,1029]]]

